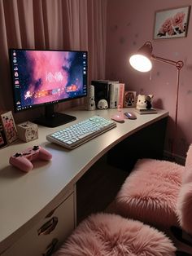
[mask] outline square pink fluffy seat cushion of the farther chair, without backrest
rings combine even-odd
[[[184,166],[170,161],[137,161],[116,196],[116,213],[158,227],[177,226],[177,196]]]

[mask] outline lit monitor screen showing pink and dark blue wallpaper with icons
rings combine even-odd
[[[17,108],[85,94],[84,54],[81,51],[13,51]]]

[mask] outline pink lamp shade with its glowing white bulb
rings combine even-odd
[[[138,51],[137,54],[132,55],[129,59],[131,66],[140,72],[148,72],[152,68],[151,54],[152,54],[151,42],[146,42]]]

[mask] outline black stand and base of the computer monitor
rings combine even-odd
[[[46,106],[45,116],[38,117],[34,122],[41,126],[57,127],[74,120],[76,120],[76,117],[64,113],[56,113],[54,105],[49,105]]]

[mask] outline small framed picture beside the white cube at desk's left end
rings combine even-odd
[[[12,143],[18,138],[15,121],[12,116],[12,112],[1,114],[2,129],[5,133],[7,143]]]

